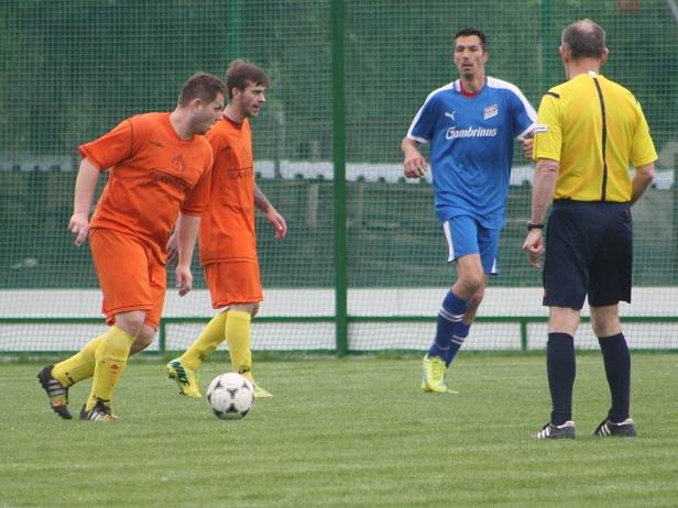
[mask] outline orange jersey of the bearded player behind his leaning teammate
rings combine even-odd
[[[215,164],[210,206],[200,221],[200,263],[258,263],[250,123],[245,119],[238,124],[222,117],[206,137],[212,147]]]

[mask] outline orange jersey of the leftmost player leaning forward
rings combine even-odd
[[[78,150],[99,170],[110,168],[90,228],[136,236],[163,262],[179,210],[200,216],[209,206],[209,143],[200,135],[182,140],[170,113],[132,117]]]

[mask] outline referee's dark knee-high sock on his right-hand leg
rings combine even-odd
[[[622,333],[612,336],[599,336],[598,343],[603,353],[605,374],[610,385],[612,407],[608,419],[620,423],[628,418],[631,401],[631,354]]]

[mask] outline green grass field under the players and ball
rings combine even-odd
[[[63,421],[39,366],[0,367],[2,507],[678,506],[676,354],[633,356],[635,440],[590,435],[609,396],[600,356],[579,354],[567,442],[531,439],[548,419],[543,355],[462,353],[457,396],[422,394],[414,357],[260,362],[274,398],[241,421],[149,360],[125,371],[122,421]],[[203,385],[226,369],[207,363]]]

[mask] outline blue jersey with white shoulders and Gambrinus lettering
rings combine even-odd
[[[514,140],[528,133],[536,120],[516,86],[491,77],[472,97],[461,92],[458,79],[426,98],[407,137],[430,142],[440,222],[471,216],[484,228],[503,227]]]

